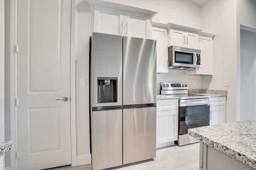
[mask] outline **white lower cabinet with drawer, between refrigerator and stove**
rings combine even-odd
[[[178,140],[178,100],[158,100],[156,109],[156,145]]]

